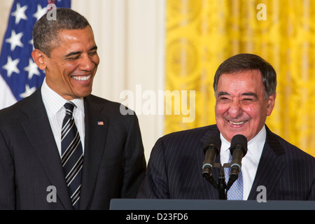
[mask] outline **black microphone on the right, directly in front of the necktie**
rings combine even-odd
[[[232,184],[239,177],[241,171],[241,159],[247,153],[247,139],[242,134],[237,134],[232,138],[230,153],[232,155],[231,172],[226,190],[229,190]]]

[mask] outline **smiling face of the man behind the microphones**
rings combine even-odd
[[[276,94],[265,97],[259,70],[223,73],[216,92],[216,124],[223,137],[231,141],[243,134],[247,141],[255,137],[272,113]]]

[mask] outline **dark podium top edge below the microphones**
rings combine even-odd
[[[110,210],[315,210],[315,201],[113,199]]]

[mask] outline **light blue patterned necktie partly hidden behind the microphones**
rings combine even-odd
[[[230,154],[229,163],[232,162],[232,155]],[[231,167],[225,167],[225,183],[228,183]],[[228,190],[228,200],[243,200],[243,175],[239,172],[239,177],[232,184],[230,190]]]

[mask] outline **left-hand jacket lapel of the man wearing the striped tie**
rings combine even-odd
[[[31,103],[29,103],[31,102]],[[55,139],[52,134],[45,106],[41,99],[41,88],[39,88],[25,103],[22,112],[27,118],[22,121],[22,127],[34,148],[41,165],[51,182],[57,189],[57,197],[66,209],[72,209],[62,164]]]

